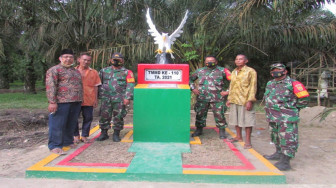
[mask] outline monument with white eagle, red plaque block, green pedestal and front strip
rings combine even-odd
[[[168,36],[156,30],[147,10],[149,32],[158,44],[157,64],[138,65],[133,144],[129,149],[136,155],[128,173],[182,174],[181,153],[190,152],[189,65],[169,64],[169,54],[174,58],[171,45],[183,32],[187,14]]]

